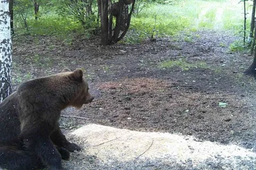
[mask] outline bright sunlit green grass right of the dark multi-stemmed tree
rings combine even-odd
[[[251,7],[247,4],[247,10]],[[156,18],[156,20],[155,20]],[[248,24],[250,20],[247,20]],[[154,25],[156,23],[156,28]],[[127,36],[128,43],[154,37],[174,36],[180,31],[198,31],[202,29],[243,31],[243,3],[239,1],[202,1],[184,0],[179,4],[150,5],[131,20],[130,30],[134,34]],[[132,37],[131,37],[132,36]],[[135,36],[135,37],[134,37]]]

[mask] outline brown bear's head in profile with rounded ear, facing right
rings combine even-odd
[[[70,101],[70,106],[81,108],[83,104],[91,103],[94,97],[89,92],[88,83],[83,76],[83,71],[81,69],[76,69],[73,73],[70,73],[70,70],[64,69],[62,72],[66,72],[68,78],[75,81],[77,85],[77,94],[74,96],[74,99]]]

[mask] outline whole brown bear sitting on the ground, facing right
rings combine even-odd
[[[0,169],[63,169],[61,158],[80,150],[67,141],[58,120],[68,106],[92,102],[83,71],[53,74],[22,83],[0,103]]]

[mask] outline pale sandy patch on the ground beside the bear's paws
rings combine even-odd
[[[213,164],[218,164],[221,169],[246,169],[250,164],[255,164],[256,158],[256,153],[237,145],[196,141],[193,137],[181,134],[129,131],[96,124],[81,127],[67,136],[84,148],[79,152],[78,159],[83,159],[85,155],[93,155],[94,159],[97,159],[97,164],[104,164],[105,169],[116,169],[115,165],[120,162],[122,167],[119,169],[131,169],[130,164],[125,167],[125,162],[135,164],[137,161],[155,160],[159,169],[162,169],[161,164],[164,169],[164,165],[170,162],[184,168],[207,169],[212,168]],[[75,154],[77,153],[73,155]],[[245,162],[242,166],[241,161]],[[82,162],[80,167],[83,167]]]

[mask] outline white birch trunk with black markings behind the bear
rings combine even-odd
[[[12,39],[8,0],[0,1],[0,103],[12,93]]]

